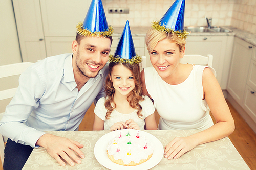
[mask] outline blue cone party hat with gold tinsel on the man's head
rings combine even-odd
[[[101,0],[92,0],[83,23],[76,26],[77,33],[82,36],[103,36],[111,37],[113,27],[108,26]]]

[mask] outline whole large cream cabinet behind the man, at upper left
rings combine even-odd
[[[23,61],[72,53],[76,25],[86,17],[91,0],[13,0]]]

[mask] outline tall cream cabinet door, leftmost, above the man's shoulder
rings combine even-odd
[[[23,62],[46,58],[39,0],[13,0]]]

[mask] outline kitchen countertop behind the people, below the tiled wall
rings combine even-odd
[[[231,26],[225,26],[226,28],[231,29],[233,32],[225,33],[225,32],[205,32],[205,33],[190,33],[189,36],[235,36],[242,40],[245,40],[248,43],[256,46],[256,35],[249,33],[247,31],[243,31]],[[147,30],[151,27],[130,27],[133,36],[145,36]],[[113,36],[121,36],[123,31],[123,27],[114,27]],[[188,38],[189,38],[188,36]]]

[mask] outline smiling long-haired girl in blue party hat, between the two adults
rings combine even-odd
[[[130,37],[125,37],[127,35]],[[141,95],[141,58],[135,54],[128,22],[109,61],[106,98],[99,99],[96,104],[93,130],[144,130],[144,126],[147,130],[157,130],[154,105],[148,96]]]

